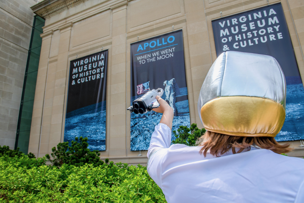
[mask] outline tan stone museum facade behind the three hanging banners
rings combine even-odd
[[[29,152],[39,157],[64,138],[69,63],[109,50],[106,151],[101,158],[145,164],[146,151],[130,151],[130,44],[182,30],[191,123],[202,127],[198,95],[216,59],[213,19],[281,2],[302,78],[304,4],[301,0],[51,0],[33,6],[45,18]],[[173,27],[174,26],[174,27]],[[290,156],[304,156],[300,141]]]

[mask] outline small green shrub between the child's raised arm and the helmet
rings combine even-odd
[[[181,125],[179,126],[179,129],[177,129],[177,132],[175,130],[172,131],[173,135],[176,137],[176,139],[172,141],[172,144],[196,146],[197,139],[205,132],[205,128],[199,129],[195,123],[192,123],[190,128]]]

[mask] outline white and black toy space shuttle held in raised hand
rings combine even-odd
[[[159,103],[156,99],[156,96],[162,96],[164,90],[162,88],[158,88],[157,90],[149,90],[142,97],[137,98],[133,101],[133,105],[127,108],[131,113],[147,113],[152,109],[158,108]]]

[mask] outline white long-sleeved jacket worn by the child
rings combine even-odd
[[[200,147],[170,143],[170,128],[155,126],[147,171],[168,203],[304,202],[302,158],[254,147],[204,157]]]

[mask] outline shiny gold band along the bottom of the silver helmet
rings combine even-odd
[[[227,96],[201,107],[206,130],[242,137],[275,137],[283,127],[285,109],[271,99]]]

